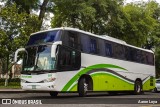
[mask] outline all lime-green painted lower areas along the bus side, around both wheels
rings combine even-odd
[[[127,80],[124,80],[123,78],[107,73],[107,72],[95,72],[94,74],[91,75],[93,78],[93,81],[97,79],[97,77],[101,77],[101,80],[98,81],[97,83],[94,84],[93,91],[121,91],[121,90],[134,90],[134,83],[129,82]],[[107,80],[106,80],[107,78]],[[106,83],[107,81],[107,83]],[[99,86],[99,83],[101,83],[101,87]],[[71,86],[68,91],[77,91],[78,84],[75,83],[73,86]],[[154,88],[153,86],[150,86],[150,78],[148,78],[144,83],[143,83],[143,91],[151,90]]]

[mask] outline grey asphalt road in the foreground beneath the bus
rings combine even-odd
[[[77,93],[59,93],[58,97],[52,98],[49,93],[0,93],[0,103],[2,99],[11,99],[12,107],[21,105],[23,101],[35,101],[37,104],[46,104],[48,107],[160,107],[160,93],[145,92],[143,95],[131,95],[121,93],[118,95],[109,95],[108,93],[88,93],[87,97],[79,97]],[[21,102],[18,102],[20,101]],[[23,102],[24,103],[24,102]],[[0,107],[9,105],[0,105]],[[22,105],[21,105],[22,106]],[[23,105],[24,106],[24,105]],[[25,105],[25,107],[36,105]],[[41,107],[42,105],[38,105]],[[42,107],[43,107],[42,106]]]

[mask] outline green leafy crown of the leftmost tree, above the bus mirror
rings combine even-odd
[[[38,17],[36,15],[28,15],[26,13],[18,13],[16,4],[6,6],[1,9],[1,42],[0,46],[6,46],[10,54],[20,46],[24,46],[28,40],[30,33],[38,31]],[[23,38],[23,39],[22,39]],[[2,40],[5,39],[5,44]],[[23,41],[22,41],[23,40]]]

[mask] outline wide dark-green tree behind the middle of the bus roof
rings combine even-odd
[[[76,27],[96,34],[107,34],[110,18],[119,14],[116,0],[54,0],[52,27]],[[116,15],[117,16],[117,15]]]

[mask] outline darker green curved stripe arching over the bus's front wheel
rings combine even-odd
[[[99,69],[99,68],[117,68],[117,69],[121,69],[121,70],[125,70],[127,71],[125,68],[116,66],[116,65],[112,65],[112,64],[96,64],[96,65],[92,65],[89,66],[83,70],[81,70],[79,73],[77,73],[62,89],[62,91],[68,91],[69,87],[79,79],[79,77],[82,74],[86,74],[88,71],[94,70],[94,69]]]

